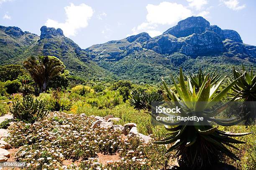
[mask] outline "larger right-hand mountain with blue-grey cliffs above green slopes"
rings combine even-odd
[[[101,67],[135,82],[159,82],[177,74],[178,67],[195,71],[233,65],[256,66],[256,46],[244,44],[238,32],[222,30],[202,17],[189,17],[162,35],[146,32],[85,49]]]

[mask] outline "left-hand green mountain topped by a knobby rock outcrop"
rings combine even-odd
[[[41,35],[26,33],[16,27],[0,30],[0,64],[21,63],[31,55],[53,55],[58,57],[71,75],[85,79],[111,78],[113,74],[99,67],[90,56],[71,39],[65,37],[61,29],[41,28]],[[30,38],[30,39],[29,39]],[[13,48],[15,47],[15,48]],[[18,51],[18,52],[17,52]]]

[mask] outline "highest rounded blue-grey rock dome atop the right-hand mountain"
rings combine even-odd
[[[194,33],[201,34],[210,27],[210,23],[202,17],[189,17],[185,20],[179,21],[179,23],[164,32],[164,34],[171,34],[175,37],[187,37]]]

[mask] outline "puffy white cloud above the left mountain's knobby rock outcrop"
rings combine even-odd
[[[80,28],[86,28],[88,21],[93,15],[92,7],[85,5],[84,3],[75,6],[64,7],[67,19],[65,23],[59,23],[56,20],[48,19],[45,23],[47,27],[61,28],[66,36],[74,36],[77,34],[77,30]]]

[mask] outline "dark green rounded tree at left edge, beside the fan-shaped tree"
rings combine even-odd
[[[16,80],[18,76],[26,74],[22,65],[0,65],[0,81]]]

